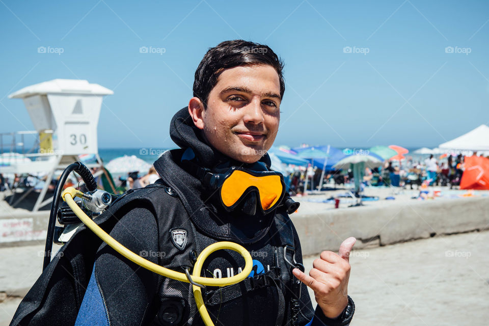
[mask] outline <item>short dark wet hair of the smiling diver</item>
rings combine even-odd
[[[280,97],[283,98],[285,92],[283,61],[267,45],[243,40],[221,42],[205,53],[195,71],[194,96],[204,103],[204,108],[207,108],[209,93],[218,83],[218,78],[225,69],[260,64],[270,65],[277,71],[280,80]]]

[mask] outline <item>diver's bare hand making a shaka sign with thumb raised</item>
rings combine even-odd
[[[320,258],[314,260],[309,275],[298,268],[292,270],[298,280],[313,289],[317,304],[328,318],[338,317],[348,305],[349,255],[356,241],[354,237],[344,240],[338,255],[323,251]]]

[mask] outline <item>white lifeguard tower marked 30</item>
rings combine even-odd
[[[23,153],[24,156],[33,159],[32,161],[13,161],[9,166],[0,167],[0,172],[24,175],[47,173],[33,211],[52,201],[52,198],[45,201],[43,199],[53,174],[57,169],[64,169],[77,161],[78,155],[94,154],[97,163],[87,166],[102,166],[98,155],[97,125],[102,98],[112,94],[114,92],[110,89],[90,84],[87,80],[53,79],[25,87],[9,95],[9,98],[23,99],[36,128],[36,131],[17,132],[22,138],[22,146],[24,134],[39,134],[37,144],[33,147],[38,148],[38,151]],[[15,143],[15,136],[13,138]],[[24,192],[16,203],[33,189]]]

